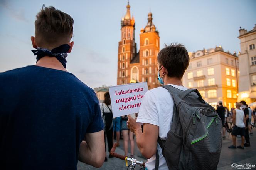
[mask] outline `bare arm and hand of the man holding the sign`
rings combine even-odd
[[[159,134],[159,127],[149,123],[144,123],[143,133],[140,123],[136,123],[136,120],[128,115],[128,128],[135,133],[136,143],[141,154],[149,159],[155,155],[157,151],[157,138]]]

